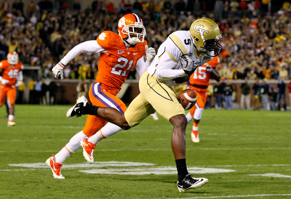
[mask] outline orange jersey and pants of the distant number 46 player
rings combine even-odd
[[[5,100],[7,98],[7,103],[10,107],[11,105],[15,104],[15,83],[18,78],[18,73],[22,70],[23,65],[21,61],[18,61],[18,63],[15,65],[12,65],[9,64],[7,60],[2,60],[0,61],[0,68],[3,70],[2,78],[9,81],[6,85],[0,85],[0,106],[3,106],[3,104],[5,104]]]

